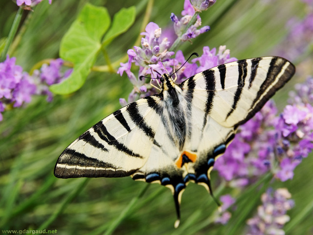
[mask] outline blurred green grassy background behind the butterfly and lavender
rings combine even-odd
[[[58,58],[62,36],[86,2],[107,7],[111,16],[121,7],[136,6],[135,24],[108,48],[112,62],[125,56],[140,33],[147,0],[53,0],[51,5],[45,0],[34,12],[24,12],[23,19],[27,14],[32,16],[27,17],[24,23],[27,27],[21,28],[25,31],[18,38],[18,45],[12,45],[10,56],[17,57],[17,64],[25,71],[41,60]],[[8,35],[17,9],[14,2],[1,1],[0,38]],[[183,0],[155,1],[150,21],[162,28],[172,26],[170,14],[180,16],[182,9]],[[305,5],[299,0],[217,0],[212,8],[201,13],[202,25],[210,25],[211,30],[179,49],[184,55],[201,54],[203,46],[226,45],[231,56],[238,59],[274,55],[275,48],[288,33],[288,20],[305,14]],[[103,64],[104,60],[99,58],[97,65]],[[296,74],[275,95],[280,110],[286,105],[293,85],[304,79],[305,72]],[[60,235],[96,235],[112,226],[146,183],[134,182],[130,177],[57,179],[53,169],[67,145],[120,108],[118,98],[127,98],[131,90],[126,75],[91,72],[86,84],[75,94],[55,96],[51,103],[47,103],[45,97],[35,97],[25,108],[3,114],[0,122],[0,230],[57,229]],[[288,212],[291,221],[285,226],[286,234],[313,234],[312,169],[311,156],[297,166],[293,180],[271,182],[273,188],[288,188],[295,200],[295,207]],[[170,190],[151,185],[114,234],[245,234],[246,219],[257,211],[263,192],[259,189],[264,188],[245,191],[224,188],[215,171],[211,178],[213,188],[221,189],[216,191],[216,196],[231,193],[238,199],[237,210],[228,224],[210,223],[209,217],[216,211],[216,204],[203,187],[189,184],[182,196],[181,224],[174,229],[176,213]]]

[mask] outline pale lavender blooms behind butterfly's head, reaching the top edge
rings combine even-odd
[[[174,14],[171,16],[172,21],[175,23],[174,30],[181,41],[195,38],[209,29],[209,26],[197,29],[201,25],[201,18],[199,15],[195,24],[188,28],[187,25],[192,17],[196,16],[195,9],[198,9],[197,11],[206,10],[215,3],[215,0],[193,0],[192,3],[194,5],[190,3],[190,0],[185,0],[184,10],[181,13],[184,17],[180,21]],[[180,68],[180,65],[185,62],[185,58],[181,51],[176,53],[175,59],[170,58],[175,54],[174,51],[170,51],[173,42],[169,41],[167,37],[162,35],[162,30],[157,24],[150,22],[146,26],[146,31],[141,33],[141,35],[144,36],[144,38],[141,39],[141,47],[129,49],[127,51],[129,57],[128,62],[121,63],[121,67],[117,71],[121,76],[125,71],[131,83],[134,85],[134,89],[129,94],[127,101],[124,98],[120,98],[122,106],[134,102],[138,98],[156,94],[156,86],[158,86],[157,79],[160,74],[171,73],[173,68],[176,71]],[[182,82],[186,78],[194,75],[197,71],[210,69],[219,64],[234,60],[235,58],[230,58],[229,50],[226,50],[225,47],[220,47],[217,55],[215,48],[210,50],[208,47],[205,47],[203,48],[203,55],[201,58],[193,60],[192,64],[187,63],[181,68],[177,73],[177,82]],[[199,62],[200,66],[196,64],[196,62]],[[136,66],[139,66],[138,76],[135,76],[131,71],[133,63]],[[144,79],[140,79],[142,76],[147,75],[154,79],[151,84],[147,83]]]

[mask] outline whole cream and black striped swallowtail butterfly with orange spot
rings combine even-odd
[[[131,103],[92,126],[59,157],[54,175],[124,177],[172,190],[179,225],[189,181],[211,194],[210,171],[252,118],[289,81],[295,67],[281,57],[227,63],[180,84],[163,74],[161,92]]]

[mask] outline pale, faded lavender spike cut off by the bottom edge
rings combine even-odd
[[[258,207],[258,214],[247,220],[249,231],[247,235],[275,234],[284,235],[284,224],[290,220],[286,214],[294,206],[287,188],[268,189],[262,194],[263,205]]]

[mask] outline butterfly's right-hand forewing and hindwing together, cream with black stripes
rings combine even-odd
[[[252,118],[294,72],[286,59],[262,57],[220,65],[180,84],[190,102],[193,125],[185,148],[198,153],[193,170],[195,178],[203,180],[197,183],[210,188],[209,172],[237,127]]]

